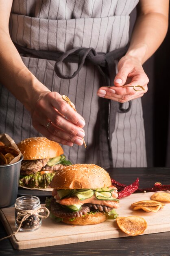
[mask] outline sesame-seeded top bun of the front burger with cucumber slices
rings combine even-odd
[[[73,164],[57,171],[50,187],[53,189],[98,189],[111,186],[109,173],[95,164]]]

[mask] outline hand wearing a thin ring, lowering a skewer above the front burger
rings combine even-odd
[[[48,139],[68,146],[83,144],[85,121],[59,93],[43,92],[32,105],[31,115],[33,127]]]

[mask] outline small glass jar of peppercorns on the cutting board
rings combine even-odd
[[[25,195],[15,201],[15,226],[20,231],[34,231],[41,226],[38,209],[41,208],[37,196]]]

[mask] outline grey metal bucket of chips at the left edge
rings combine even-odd
[[[0,165],[0,208],[15,204],[22,160],[23,155],[14,164]]]

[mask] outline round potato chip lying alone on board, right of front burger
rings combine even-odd
[[[146,220],[139,216],[117,217],[116,222],[118,227],[129,236],[140,235],[147,228]]]

